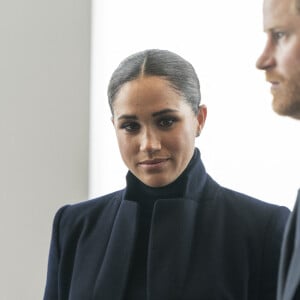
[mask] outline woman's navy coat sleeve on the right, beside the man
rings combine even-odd
[[[263,264],[260,278],[260,300],[276,299],[281,243],[290,214],[286,207],[276,207],[270,216],[264,235]]]

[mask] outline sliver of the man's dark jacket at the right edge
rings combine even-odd
[[[300,190],[284,234],[277,299],[300,299]]]

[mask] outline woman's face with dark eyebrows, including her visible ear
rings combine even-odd
[[[205,106],[196,116],[167,80],[155,76],[125,83],[113,112],[124,163],[151,187],[165,186],[184,171],[206,118]]]

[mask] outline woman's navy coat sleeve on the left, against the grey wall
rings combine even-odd
[[[50,243],[50,251],[48,258],[48,271],[47,271],[47,280],[46,287],[44,292],[44,300],[53,300],[59,299],[58,297],[58,273],[59,273],[59,224],[63,212],[67,206],[60,208],[53,221],[52,227],[52,237]]]

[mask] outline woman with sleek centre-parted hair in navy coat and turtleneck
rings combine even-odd
[[[108,98],[127,185],[57,212],[44,299],[275,299],[289,211],[206,173],[195,138],[207,110],[191,64],[136,53]]]

